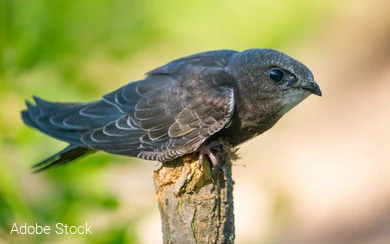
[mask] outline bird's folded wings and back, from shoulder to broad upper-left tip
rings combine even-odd
[[[221,130],[234,109],[233,78],[226,66],[234,51],[175,60],[85,104],[35,98],[27,124],[89,149],[166,161],[195,151]]]

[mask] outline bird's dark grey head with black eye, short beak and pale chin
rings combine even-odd
[[[279,97],[281,115],[310,94],[322,95],[313,74],[304,64],[276,50],[243,51],[229,66],[238,86],[249,94],[256,94],[262,100]]]

